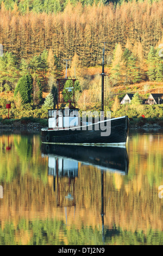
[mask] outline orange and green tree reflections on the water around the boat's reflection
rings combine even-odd
[[[39,136],[20,141],[21,136],[11,137],[12,150],[6,154],[7,138],[1,138],[0,243],[103,245],[101,171],[80,166],[76,213],[70,209],[66,225],[64,208],[57,208],[53,177],[47,175],[47,159],[41,158]],[[135,134],[128,175],[105,172],[105,245],[162,243],[162,145],[161,135]]]

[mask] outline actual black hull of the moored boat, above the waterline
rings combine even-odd
[[[106,123],[107,122],[107,123]],[[111,122],[111,123],[109,123]],[[80,129],[41,130],[41,141],[53,144],[126,144],[128,135],[128,117],[114,118],[104,121],[105,127],[111,127],[108,136],[107,130],[96,130],[95,124]],[[100,127],[100,126],[99,126]],[[109,130],[109,128],[108,128]]]

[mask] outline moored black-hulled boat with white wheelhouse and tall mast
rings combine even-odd
[[[95,120],[87,120],[84,115],[80,117],[75,101],[76,78],[67,78],[66,65],[65,78],[57,79],[57,108],[48,109],[48,127],[41,129],[42,143],[125,147],[129,130],[128,116],[112,119],[110,115],[104,117],[104,52],[103,48],[101,115],[97,115]],[[68,107],[61,107],[67,103]]]

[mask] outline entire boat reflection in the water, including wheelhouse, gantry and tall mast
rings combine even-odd
[[[128,154],[125,148],[87,147],[42,144],[42,157],[48,156],[48,175],[53,176],[54,191],[57,192],[57,206],[76,208],[75,183],[81,164],[95,166],[101,170],[101,217],[102,241],[104,243],[104,173],[128,174]]]

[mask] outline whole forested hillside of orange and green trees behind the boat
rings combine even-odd
[[[78,106],[99,109],[104,41],[108,109],[115,95],[120,100],[127,92],[144,97],[162,92],[162,1],[0,0],[0,4],[2,107],[11,98],[15,109],[22,104],[28,110],[42,109],[50,93],[48,104],[53,106],[55,80],[65,76],[65,59],[70,59],[68,76],[78,78]]]

